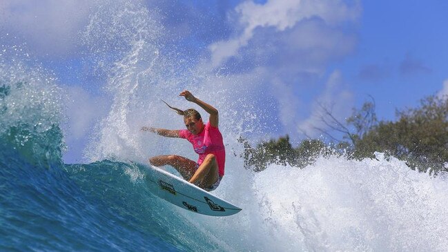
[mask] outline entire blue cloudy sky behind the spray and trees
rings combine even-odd
[[[446,1],[1,1],[1,44],[25,43],[71,97],[67,162],[81,159],[110,107],[91,64],[112,54],[95,55],[81,35],[92,10],[129,4],[162,27],[166,57],[251,86],[255,106],[260,95],[275,104],[280,126],[267,135],[318,137],[318,103],[344,120],[371,96],[378,117],[393,120],[396,109],[448,94]]]

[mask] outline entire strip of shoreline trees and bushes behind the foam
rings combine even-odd
[[[240,137],[244,146],[244,167],[262,171],[269,164],[290,164],[304,168],[320,156],[344,155],[349,159],[374,158],[375,152],[396,157],[413,170],[438,175],[448,172],[448,99],[432,95],[420,100],[416,108],[396,110],[395,121],[378,120],[375,101],[366,101],[345,122],[335,119],[322,106],[322,122],[327,128],[315,128],[329,139],[304,139],[293,147],[289,135],[252,146]],[[335,134],[336,133],[336,134]],[[342,135],[336,139],[332,134]]]

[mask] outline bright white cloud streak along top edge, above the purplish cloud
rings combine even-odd
[[[262,5],[245,1],[235,8],[235,12],[242,32],[209,47],[213,68],[236,56],[241,48],[248,46],[257,28],[274,28],[276,32],[284,32],[301,21],[313,18],[324,21],[329,27],[338,26],[340,23],[356,20],[360,13],[360,4],[358,1],[353,6],[347,6],[344,1],[268,0]],[[304,41],[309,39],[306,35],[302,33]],[[320,41],[322,43],[326,40]]]

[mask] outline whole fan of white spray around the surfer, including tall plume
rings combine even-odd
[[[195,107],[178,97],[184,89],[220,110],[220,129],[230,142],[242,133],[259,135],[266,128],[264,121],[271,119],[264,113],[268,108],[253,104],[256,100],[266,105],[253,95],[260,91],[246,85],[253,79],[228,79],[219,70],[210,72],[179,59],[175,46],[164,41],[164,28],[154,18],[158,15],[157,10],[131,1],[101,6],[91,15],[83,40],[90,50],[88,59],[107,77],[104,89],[112,95],[113,104],[86,148],[90,161],[106,157],[146,161],[149,155],[191,151],[188,144],[168,143],[139,131],[142,126],[183,128],[182,118],[160,99],[179,108]],[[275,120],[267,126],[275,128]],[[194,154],[188,157],[195,158]]]

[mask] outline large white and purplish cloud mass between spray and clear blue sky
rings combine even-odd
[[[260,74],[254,69],[263,69],[265,75],[247,77],[245,85],[263,90],[266,104],[273,106],[270,112],[281,124],[280,130],[316,137],[320,135],[316,127],[325,127],[319,104],[331,108],[342,122],[353,106],[353,95],[344,88],[339,71],[324,79],[331,61],[349,55],[356,46],[356,32],[349,27],[356,25],[361,7],[360,1],[352,3],[244,1],[235,8],[235,19],[231,20],[236,28],[233,37],[212,43],[208,47],[210,61],[204,61],[199,68],[211,72],[228,69],[228,79],[236,79],[241,72],[247,76]],[[310,86],[315,90],[324,86],[324,90],[314,99],[300,98],[300,93],[309,92]],[[259,94],[246,95],[255,100]]]

